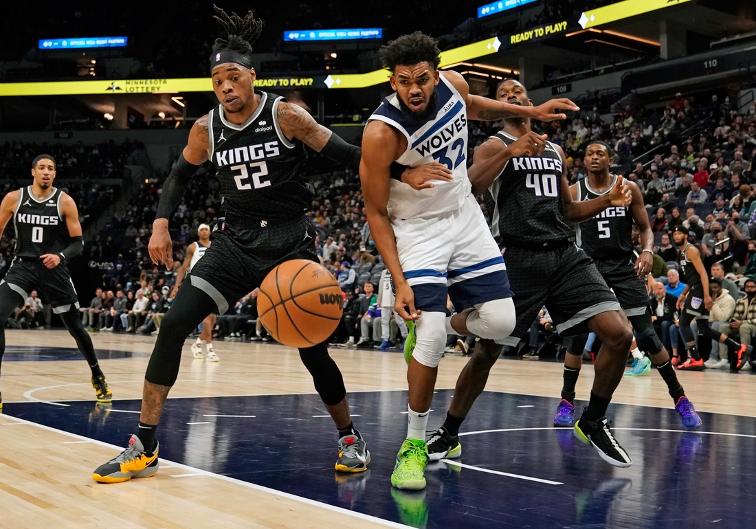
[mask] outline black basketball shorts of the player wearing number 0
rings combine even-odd
[[[71,307],[79,308],[79,295],[64,263],[47,268],[38,257],[16,258],[2,283],[8,283],[11,290],[23,296],[24,301],[32,290],[39,290],[48,299],[55,314],[68,312]]]

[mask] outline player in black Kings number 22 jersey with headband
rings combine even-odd
[[[212,47],[212,85],[220,105],[198,119],[166,183],[153,223],[150,256],[172,264],[168,219],[192,176],[211,160],[221,182],[225,221],[219,223],[203,258],[181,283],[144,377],[138,435],[118,457],[95,470],[96,481],[113,483],[154,475],[158,468],[155,429],[178,375],[181,346],[208,314],[228,306],[262,283],[283,261],[318,262],[315,230],[305,216],[313,190],[302,178],[305,145],[358,168],[361,151],[346,144],[301,107],[283,97],[254,90],[256,72],[250,54],[262,22],[216,8],[215,17],[228,32]],[[339,429],[336,470],[363,472],[370,462],[365,442],[352,426],[341,372],[325,343],[299,350],[315,389]]]

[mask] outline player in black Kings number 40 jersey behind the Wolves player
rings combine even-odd
[[[527,91],[505,79],[496,98],[531,106]],[[593,445],[606,462],[631,466],[632,460],[609,429],[606,409],[622,379],[625,358],[633,336],[617,299],[606,286],[593,261],[569,242],[573,231],[567,222],[592,218],[609,206],[627,206],[630,190],[619,182],[595,200],[572,200],[561,147],[531,130],[530,119],[505,119],[504,128],[476,148],[468,169],[472,193],[491,193],[495,203],[494,237],[503,247],[510,284],[515,293],[517,323],[506,345],[517,345],[543,305],[562,336],[590,329],[602,341],[596,361],[596,378],[590,402],[575,424],[575,435]],[[488,354],[487,354],[488,353]],[[454,389],[447,418],[429,443],[433,459],[440,459],[459,444],[460,425],[472,403],[485,388],[488,373],[499,357],[476,348]]]

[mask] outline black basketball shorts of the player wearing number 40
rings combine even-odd
[[[587,333],[587,320],[619,311],[617,298],[593,260],[572,243],[554,249],[510,246],[505,250],[517,322],[499,343],[517,345],[546,305],[560,336]]]

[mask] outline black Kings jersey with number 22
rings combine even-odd
[[[302,177],[305,145],[286,138],[278,125],[278,105],[286,99],[255,93],[260,104],[241,125],[225,119],[222,105],[209,112],[210,159],[231,225],[301,217],[314,194]]]

